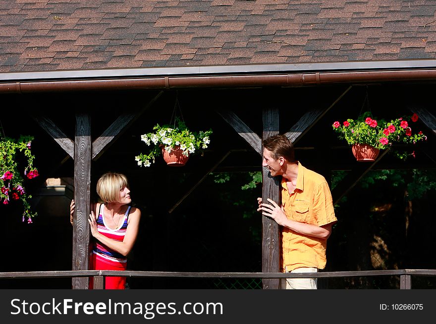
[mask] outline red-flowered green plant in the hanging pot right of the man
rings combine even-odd
[[[393,143],[415,144],[421,140],[427,140],[422,131],[413,133],[410,123],[418,121],[418,115],[404,116],[386,122],[383,119],[371,118],[371,112],[365,112],[357,120],[347,119],[342,123],[334,122],[333,130],[338,137],[345,139],[349,145],[368,144],[378,149],[389,149]],[[394,155],[400,159],[406,159],[409,155],[406,152],[392,150]]]

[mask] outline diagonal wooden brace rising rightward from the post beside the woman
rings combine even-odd
[[[163,94],[160,91],[149,103],[138,113],[125,113],[120,115],[103,134],[96,138],[92,144],[92,160],[96,161],[106,149],[134,123],[147,109],[152,107],[158,98]]]

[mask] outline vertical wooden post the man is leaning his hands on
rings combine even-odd
[[[275,135],[279,130],[278,109],[263,109],[264,130],[262,138]],[[272,177],[267,168],[262,168],[262,201],[267,198],[280,203],[281,177]],[[278,224],[267,216],[262,216],[262,272],[280,272],[281,242]],[[279,279],[263,279],[263,289],[279,289]]]

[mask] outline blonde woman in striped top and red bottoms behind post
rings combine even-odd
[[[94,237],[90,260],[92,270],[126,270],[127,255],[138,236],[141,211],[132,207],[130,189],[125,175],[108,172],[97,182],[97,194],[101,201],[89,214],[89,225]],[[70,221],[73,223],[74,200],[70,205]],[[106,289],[125,289],[125,277],[105,278]],[[90,289],[93,288],[92,278]]]

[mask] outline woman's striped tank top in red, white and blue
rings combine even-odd
[[[124,214],[124,220],[121,225],[116,229],[110,229],[105,222],[105,216],[103,214],[104,208],[103,204],[100,205],[99,216],[97,217],[97,230],[100,234],[106,236],[111,240],[115,240],[118,242],[122,242],[124,240],[124,236],[126,235],[127,229],[127,220],[129,218],[130,206],[127,208]],[[107,263],[118,264],[127,262],[127,258],[122,254],[110,249],[106,245],[102,244],[100,241],[97,241],[94,245],[94,249],[92,251],[97,255],[97,258],[104,260]]]

